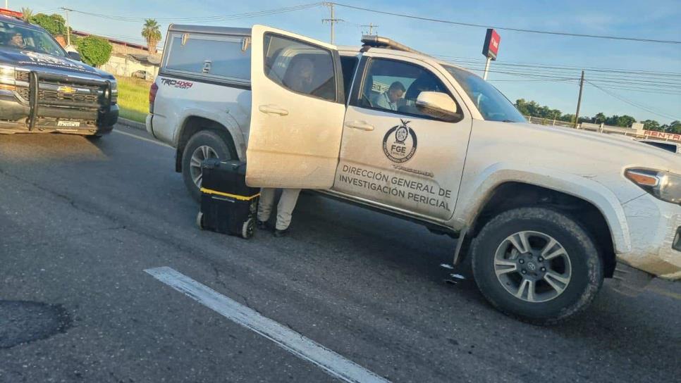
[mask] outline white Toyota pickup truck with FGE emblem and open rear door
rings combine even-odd
[[[465,69],[382,37],[361,49],[252,28],[171,25],[149,133],[193,196],[204,158],[257,187],[317,189],[458,238],[493,306],[529,322],[585,308],[604,277],[681,278],[681,158],[528,124]],[[454,246],[453,246],[454,248]]]

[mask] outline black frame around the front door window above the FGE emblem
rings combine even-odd
[[[459,114],[461,115],[461,117],[458,120],[455,120],[455,121],[448,121],[448,120],[443,120],[441,118],[436,118],[436,117],[426,115],[426,114],[409,113],[409,112],[405,112],[405,111],[392,111],[390,109],[376,108],[374,106],[366,106],[366,105],[360,104],[360,97],[363,95],[362,91],[364,89],[364,86],[366,85],[366,80],[367,80],[367,77],[369,75],[369,70],[372,68],[372,61],[394,61],[396,63],[400,63],[400,64],[403,64],[403,65],[411,65],[413,67],[419,68],[420,70],[423,70],[426,73],[429,73],[438,82],[438,85],[444,90],[444,92],[442,92],[442,93],[447,94],[454,101],[454,103],[456,104],[456,106],[458,108],[458,111],[459,111]],[[355,80],[352,82],[352,94],[350,95],[350,102],[349,102],[350,106],[355,106],[357,108],[362,108],[362,109],[368,109],[368,110],[371,110],[371,111],[381,111],[381,112],[391,113],[391,114],[396,114],[396,115],[408,115],[408,116],[415,117],[415,118],[424,118],[426,120],[442,121],[444,123],[459,123],[461,120],[463,120],[465,118],[465,114],[464,114],[463,108],[461,106],[461,103],[456,99],[455,96],[453,96],[449,87],[446,86],[445,82],[443,82],[443,80],[441,80],[441,78],[438,77],[438,75],[436,75],[433,72],[433,70],[430,70],[429,68],[424,67],[424,65],[419,65],[419,64],[416,64],[416,63],[411,63],[409,61],[403,61],[403,60],[398,60],[398,59],[394,59],[394,58],[362,56],[362,59],[360,60],[360,63],[357,67],[356,73],[357,74],[355,75]]]

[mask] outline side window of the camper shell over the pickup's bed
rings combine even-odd
[[[250,48],[240,36],[175,33],[165,67],[192,74],[238,80],[251,78]],[[184,40],[184,41],[183,41]]]

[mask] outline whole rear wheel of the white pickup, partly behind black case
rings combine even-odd
[[[207,158],[231,160],[232,153],[219,134],[202,130],[189,139],[182,154],[182,177],[189,194],[196,201],[201,199],[201,163]]]

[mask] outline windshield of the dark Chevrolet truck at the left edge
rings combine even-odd
[[[0,47],[66,56],[66,52],[47,32],[5,22],[0,22]]]

